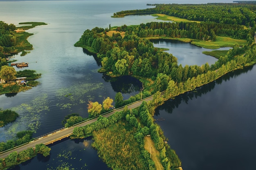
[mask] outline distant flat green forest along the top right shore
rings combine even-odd
[[[148,5],[154,5],[156,7],[140,10],[120,11],[114,13],[114,16],[125,16],[136,13],[161,13],[193,21],[239,24],[247,27],[254,27],[256,23],[256,7],[254,4],[208,3]]]

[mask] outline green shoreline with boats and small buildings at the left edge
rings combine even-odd
[[[41,74],[33,70],[24,70],[16,72],[11,67],[10,60],[12,54],[22,52],[21,56],[29,53],[33,46],[27,41],[27,38],[32,33],[25,32],[27,29],[34,28],[38,25],[46,25],[44,22],[22,22],[19,24],[31,24],[26,26],[16,27],[13,24],[6,24],[0,21],[0,95],[7,93],[18,93],[27,91],[33,86],[39,84],[35,81],[40,78]],[[16,66],[25,66],[25,64]]]

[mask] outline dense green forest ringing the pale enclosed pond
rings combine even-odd
[[[228,68],[224,71],[226,73],[241,66],[243,67],[248,63],[255,62],[255,47],[251,46],[254,41],[254,31],[252,29],[244,29],[243,26],[239,25],[218,24],[216,22],[151,22],[138,26],[124,25],[117,28],[117,30],[126,33],[124,38],[120,33],[113,33],[112,36],[108,36],[106,34],[107,30],[102,28],[86,30],[76,45],[88,47],[88,49],[97,53],[102,64],[100,71],[106,72],[108,75],[133,75],[150,78],[154,82],[157,82],[157,79],[161,79],[162,85],[158,86],[156,84],[154,88],[155,90],[160,88],[159,91],[166,90],[167,84],[171,79],[179,84],[180,82],[186,82],[188,79],[207,74],[202,81],[208,82],[223,74],[220,71],[216,72],[223,64],[228,64]],[[178,38],[186,36],[208,41],[214,39],[217,35],[246,38],[247,45],[243,47],[234,46],[226,56],[220,57],[211,66],[206,63],[202,66],[186,65],[183,67],[177,64],[176,57],[159,51],[154,48],[150,40],[143,38],[155,36],[173,36]]]

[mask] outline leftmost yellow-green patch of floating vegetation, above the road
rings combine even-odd
[[[7,141],[16,138],[16,133],[22,130],[32,130],[36,132],[40,127],[40,115],[43,111],[49,111],[49,103],[47,102],[47,95],[36,97],[28,104],[20,104],[19,106],[10,108],[17,112],[20,116],[15,122],[8,124],[1,131],[0,141]]]

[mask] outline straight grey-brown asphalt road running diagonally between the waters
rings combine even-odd
[[[162,94],[163,94],[163,93],[162,93]],[[150,96],[150,97],[147,97],[147,98],[145,98],[145,99],[142,99],[142,100],[140,100],[140,101],[138,101],[138,102],[134,102],[134,103],[128,105],[128,109],[137,108],[137,107],[139,107],[139,106],[142,104],[143,101],[146,101],[146,102],[147,102],[147,101],[150,101],[150,100],[152,100],[152,99],[153,99],[153,96]],[[114,111],[112,111],[111,113],[108,113],[108,114],[106,114],[106,115],[103,115],[103,117],[109,117],[110,115],[113,115],[113,114],[116,113],[116,112],[120,112],[120,111],[123,110],[123,109],[124,109],[123,107],[122,107],[122,108],[117,108],[117,109],[115,109]],[[36,140],[34,140],[34,141],[31,141],[31,142],[28,143],[28,144],[24,144],[24,145],[22,145],[22,146],[19,146],[19,147],[13,148],[13,149],[11,149],[11,150],[8,150],[8,151],[6,151],[6,152],[3,152],[3,153],[0,154],[0,159],[3,159],[3,158],[5,158],[5,157],[7,157],[11,152],[14,152],[14,151],[20,152],[20,151],[22,151],[22,150],[26,150],[27,148],[34,148],[34,147],[36,146],[36,144],[47,144],[47,143],[49,144],[49,142],[51,142],[51,141],[53,141],[53,140],[55,140],[55,139],[64,137],[64,136],[66,136],[66,135],[68,135],[68,134],[71,135],[71,134],[73,133],[74,128],[76,128],[76,127],[81,127],[81,126],[85,126],[85,125],[87,125],[87,124],[91,124],[91,123],[97,121],[97,119],[98,119],[98,118],[94,118],[94,119],[91,119],[91,120],[89,120],[89,121],[85,121],[85,122],[83,122],[83,123],[81,123],[81,124],[78,124],[78,125],[75,125],[75,126],[72,126],[72,127],[69,127],[69,128],[65,128],[65,129],[62,129],[62,130],[53,132],[53,133],[48,134],[48,135],[46,135],[46,136],[44,136],[44,137],[40,137],[40,138],[38,138],[38,139],[36,139]]]

